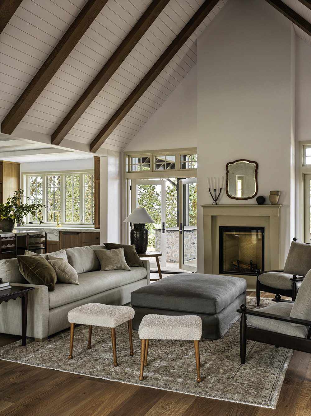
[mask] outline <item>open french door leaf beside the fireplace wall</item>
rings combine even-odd
[[[179,268],[197,271],[197,179],[180,179]]]

